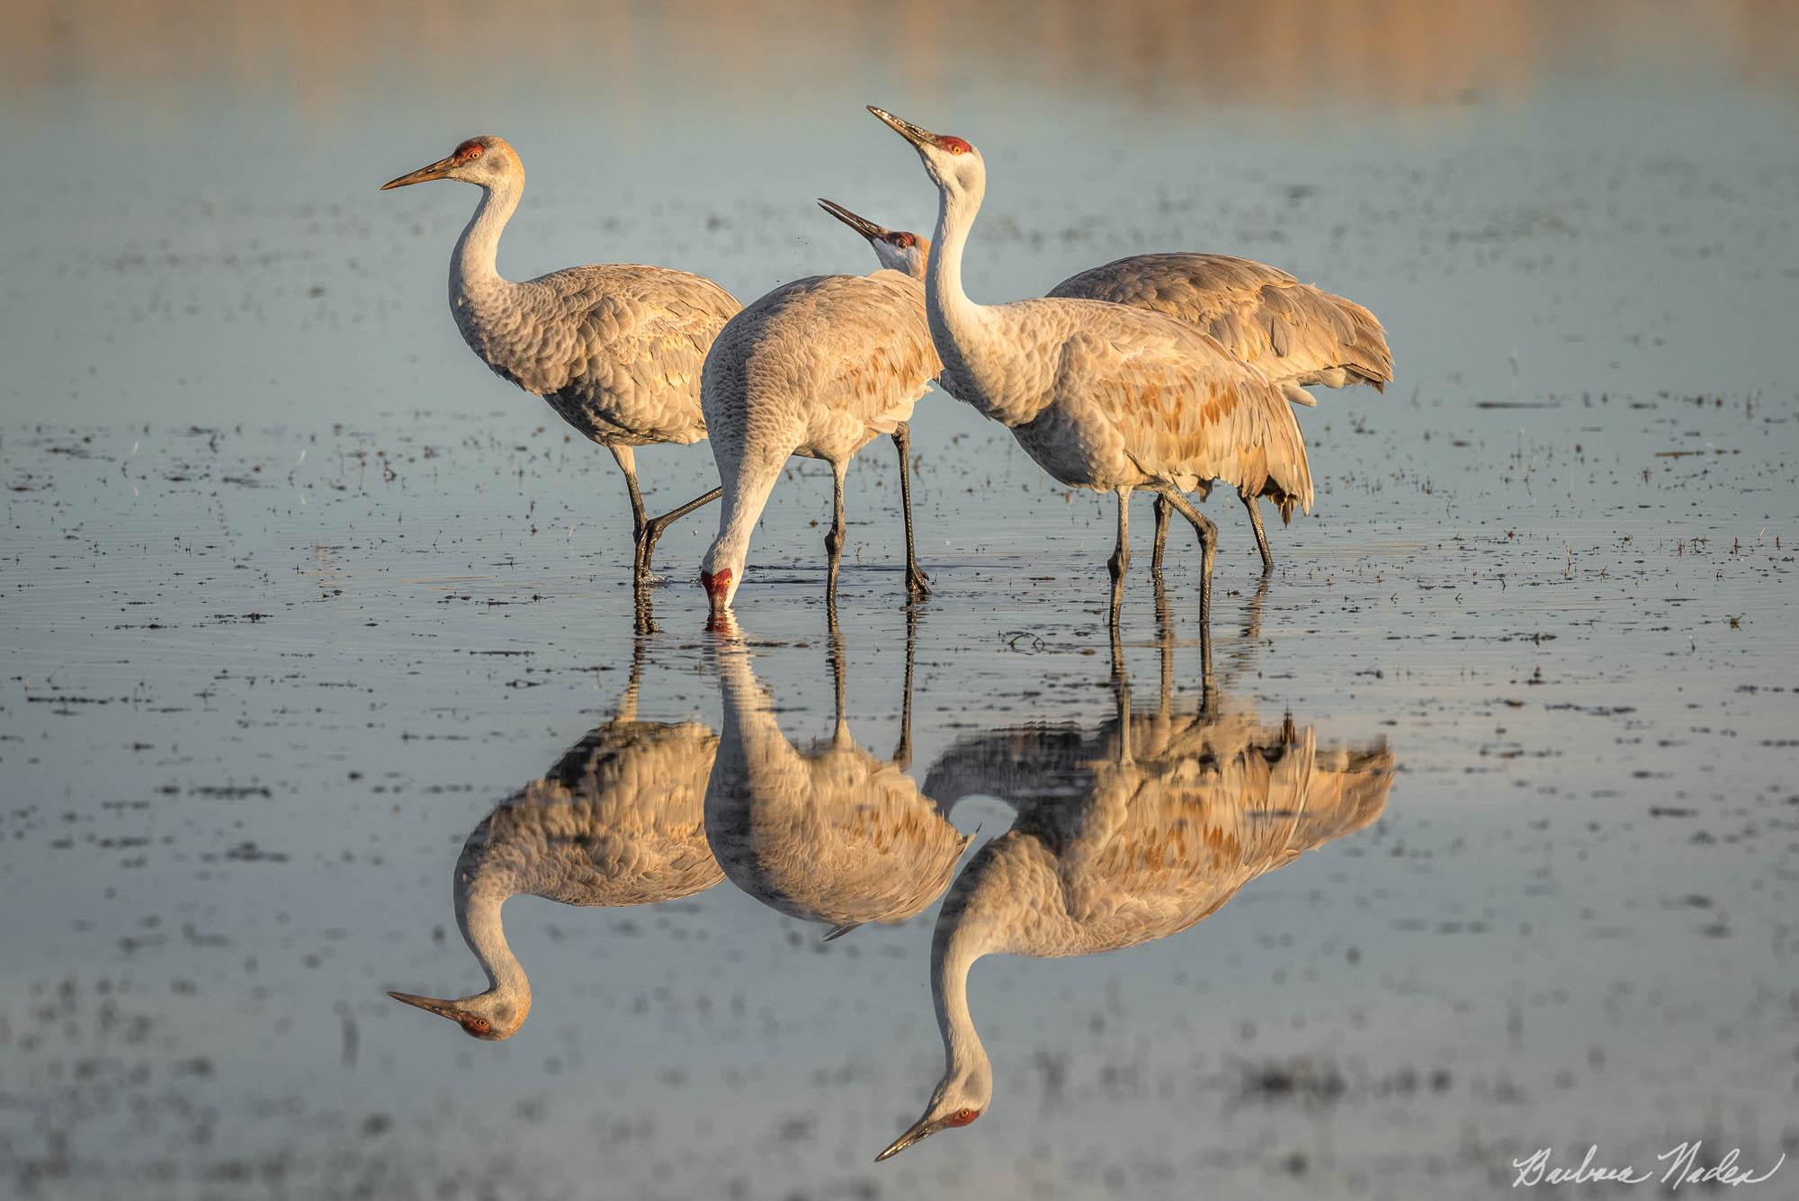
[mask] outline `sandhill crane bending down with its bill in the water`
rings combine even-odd
[[[835,212],[829,201],[819,201]],[[925,291],[907,273],[811,275],[754,300],[705,356],[702,405],[723,482],[718,538],[700,568],[714,617],[743,584],[750,534],[788,457],[831,464],[826,602],[837,604],[844,557],[844,471],[878,435],[900,451],[907,592],[930,592],[912,548],[912,406],[930,390],[937,352]]]

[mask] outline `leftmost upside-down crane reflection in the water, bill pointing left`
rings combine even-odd
[[[495,807],[462,843],[455,919],[488,973],[488,989],[457,1000],[389,996],[450,1018],[473,1037],[509,1039],[531,1012],[531,980],[506,942],[500,906],[507,897],[653,904],[723,879],[702,814],[718,735],[693,721],[639,721],[639,674],[640,658],[613,717],[541,780]]]

